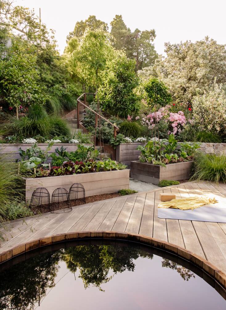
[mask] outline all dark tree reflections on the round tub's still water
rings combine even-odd
[[[134,272],[138,258],[151,261],[153,254],[127,246],[82,245],[27,259],[0,273],[0,309],[27,310],[40,305],[56,285],[62,262],[69,272],[79,274],[85,289],[94,286],[105,294],[102,286],[118,273]],[[185,281],[195,278],[189,269],[169,259],[163,258],[161,266],[175,270]]]

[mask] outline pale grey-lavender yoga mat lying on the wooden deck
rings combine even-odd
[[[226,205],[216,205],[202,206],[194,210],[158,208],[158,217],[161,219],[185,219],[189,221],[226,223]]]

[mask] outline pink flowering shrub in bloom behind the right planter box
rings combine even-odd
[[[168,125],[168,135],[173,133],[178,134],[186,124],[186,117],[182,111],[175,113],[169,112],[170,106],[167,105],[160,108],[156,112],[152,112],[147,116],[142,116],[141,124],[147,126],[149,129],[153,129],[160,121],[164,121]]]

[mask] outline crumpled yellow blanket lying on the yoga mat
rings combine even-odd
[[[173,209],[196,209],[204,205],[209,205],[211,203],[217,203],[215,198],[208,198],[207,196],[202,197],[189,197],[182,199],[172,199],[171,201],[161,202],[158,208],[173,208]]]

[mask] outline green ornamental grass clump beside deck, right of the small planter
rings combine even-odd
[[[194,161],[192,180],[207,180],[210,182],[226,182],[226,156],[197,153]]]

